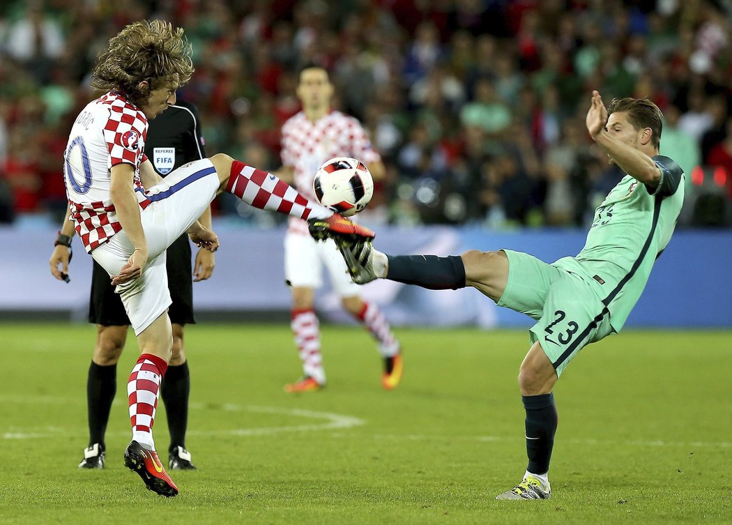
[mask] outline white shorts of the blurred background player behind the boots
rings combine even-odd
[[[348,275],[346,261],[333,239],[315,242],[312,237],[295,232],[285,235],[285,279],[291,286],[320,288],[324,265],[333,289],[340,297],[359,294],[359,285]]]

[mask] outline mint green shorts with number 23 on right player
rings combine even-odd
[[[509,260],[508,282],[498,305],[537,321],[529,330],[531,343],[539,342],[560,376],[584,346],[613,332],[610,314],[579,275],[528,253],[504,253]]]

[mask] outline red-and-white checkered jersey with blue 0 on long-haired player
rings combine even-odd
[[[92,100],[71,127],[64,181],[71,218],[87,252],[122,230],[109,197],[113,165],[134,166],[138,202],[146,201],[140,182],[146,136],[145,114],[116,92]]]

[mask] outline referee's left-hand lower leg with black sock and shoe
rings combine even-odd
[[[127,325],[97,324],[97,341],[86,379],[86,417],[89,446],[84,449],[80,469],[103,469],[105,431],[117,391],[117,362],[127,339]]]

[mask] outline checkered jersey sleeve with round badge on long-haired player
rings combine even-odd
[[[127,163],[138,166],[145,149],[144,133],[147,122],[137,111],[127,108],[113,108],[104,127],[104,139],[110,157],[110,167]]]

